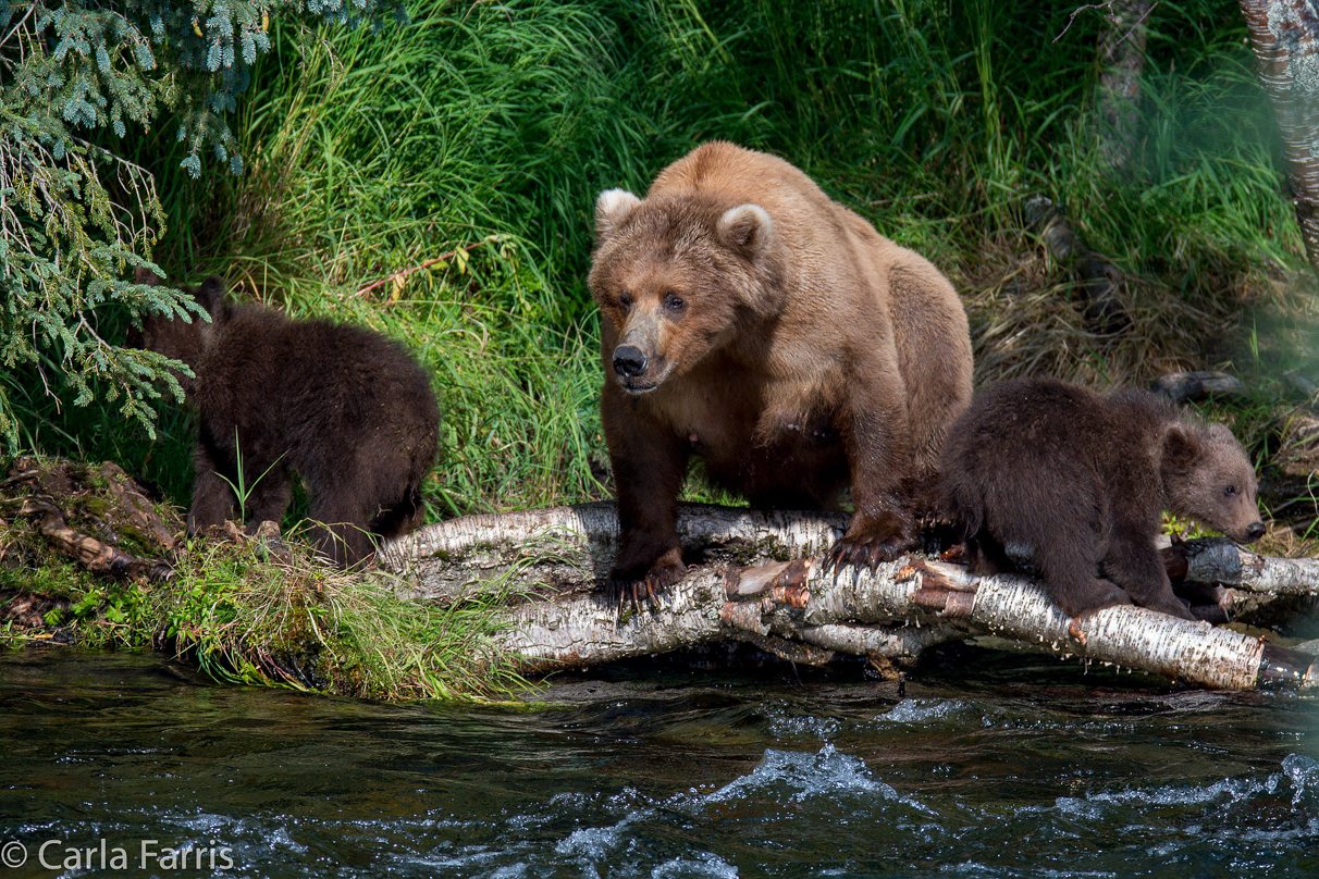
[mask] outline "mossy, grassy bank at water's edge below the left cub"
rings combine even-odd
[[[175,543],[177,511],[149,503],[162,538],[142,527],[137,498],[115,465],[15,461],[0,488],[5,643],[153,648],[218,680],[372,698],[493,698],[526,687],[491,648],[499,594],[450,608],[405,601],[390,576],[326,568],[297,535],[273,531],[231,527]],[[44,532],[51,506],[80,540]],[[66,555],[94,543],[160,564],[98,576]]]

